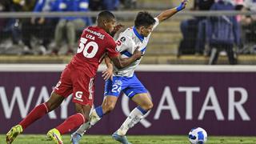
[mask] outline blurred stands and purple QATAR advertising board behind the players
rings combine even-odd
[[[190,0],[186,10],[153,32],[137,74],[150,91],[154,109],[129,134],[186,135],[194,126],[203,127],[209,135],[256,134],[256,2],[223,1],[225,11],[210,8],[218,0]],[[181,1],[90,0],[83,1],[81,10],[73,11],[61,3],[56,4],[61,10],[56,10],[47,2],[55,1],[0,2],[0,134],[49,98],[76,51],[82,28],[94,24],[99,10],[113,10],[118,23],[130,27],[138,11],[148,10],[156,16]],[[225,22],[218,25],[223,21],[229,26]],[[220,40],[225,40],[224,44]],[[100,66],[98,72],[96,106],[102,102],[100,72],[104,68]],[[89,134],[111,134],[133,107],[125,96],[120,97],[114,112]],[[26,133],[44,134],[73,113],[68,98]]]

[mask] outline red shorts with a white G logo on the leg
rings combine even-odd
[[[82,70],[66,67],[54,92],[64,98],[73,94],[72,102],[92,106],[94,89],[94,78],[88,77]]]

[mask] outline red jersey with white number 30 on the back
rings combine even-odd
[[[118,56],[114,38],[98,26],[89,26],[83,30],[77,54],[69,66],[83,70],[90,78],[96,75],[98,65],[107,54],[110,58]]]

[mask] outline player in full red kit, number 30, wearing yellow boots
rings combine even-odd
[[[102,59],[107,55],[115,66],[122,68],[141,58],[142,52],[139,50],[135,50],[130,58],[121,58],[115,50],[116,44],[110,36],[114,32],[114,14],[102,11],[98,14],[97,23],[98,26],[89,26],[83,30],[77,54],[62,71],[61,78],[54,87],[50,99],[34,107],[34,110],[22,122],[11,128],[6,134],[7,143],[13,142],[14,138],[21,134],[27,126],[56,109],[66,97],[72,94],[72,102],[74,102],[77,114],[66,118],[65,122],[47,133],[47,137],[54,143],[62,143],[61,134],[74,130],[89,119],[94,100],[94,78]]]

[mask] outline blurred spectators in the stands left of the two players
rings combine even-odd
[[[134,8],[136,0],[1,0],[0,12],[88,12],[118,10],[121,6]],[[80,17],[0,18],[0,54],[59,54],[63,46],[64,54],[73,54],[77,34],[93,22]]]

